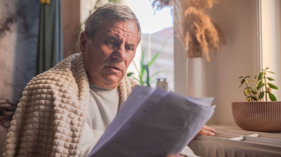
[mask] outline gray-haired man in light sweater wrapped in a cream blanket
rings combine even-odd
[[[140,40],[129,7],[99,7],[81,33],[81,53],[27,84],[2,156],[87,156],[136,85],[125,74]],[[197,136],[210,131],[204,126]],[[195,156],[188,147],[181,154]]]

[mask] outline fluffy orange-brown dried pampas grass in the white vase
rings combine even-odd
[[[175,32],[184,44],[188,58],[202,57],[210,62],[209,52],[215,53],[225,44],[220,26],[214,23],[204,9],[212,8],[221,0],[153,0],[155,10],[171,7]]]

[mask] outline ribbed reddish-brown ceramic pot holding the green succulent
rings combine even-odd
[[[281,132],[281,101],[233,102],[232,113],[247,131]]]

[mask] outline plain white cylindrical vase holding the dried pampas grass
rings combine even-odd
[[[191,97],[206,96],[206,81],[204,75],[204,58],[186,59],[186,87],[187,95]]]

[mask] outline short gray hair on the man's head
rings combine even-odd
[[[126,5],[106,4],[97,8],[87,19],[85,32],[90,39],[93,38],[95,31],[102,25],[104,20],[122,19],[125,21],[133,20],[138,27],[138,44],[141,41],[141,25],[134,12]]]

